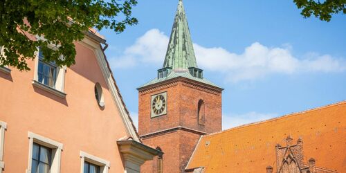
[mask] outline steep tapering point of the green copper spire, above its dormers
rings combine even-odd
[[[187,71],[190,67],[197,68],[197,62],[183,1],[179,0],[163,68]]]

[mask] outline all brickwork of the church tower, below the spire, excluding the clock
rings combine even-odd
[[[163,92],[167,92],[167,114],[151,118],[151,96]],[[146,145],[160,147],[165,153],[163,172],[184,172],[201,134],[221,131],[221,89],[176,78],[140,89],[138,100],[138,133]],[[198,123],[199,100],[205,103],[204,125]],[[155,133],[158,131],[162,132]],[[141,172],[152,173],[152,161]]]

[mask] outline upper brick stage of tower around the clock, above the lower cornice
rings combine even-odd
[[[150,118],[151,96],[163,92],[167,92],[167,114]],[[206,105],[205,125],[197,122],[199,100]],[[138,98],[138,122],[140,136],[178,126],[207,133],[221,131],[221,90],[216,92],[202,84],[179,79],[142,90]]]

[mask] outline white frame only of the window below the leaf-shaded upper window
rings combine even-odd
[[[62,154],[62,147],[63,147],[62,143],[59,143],[55,140],[51,140],[50,138],[46,138],[44,136],[40,136],[38,134],[34,134],[33,132],[30,132],[30,131],[28,131],[28,138],[29,138],[29,159],[28,159],[28,169],[26,169],[26,173],[31,173],[34,143],[37,143],[39,145],[52,149],[50,173],[60,173],[60,161],[61,161],[61,154]]]

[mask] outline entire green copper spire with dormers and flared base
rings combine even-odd
[[[165,62],[163,63],[163,68],[158,69],[157,72],[157,78],[143,84],[138,89],[140,90],[147,86],[173,80],[175,78],[194,80],[221,89],[216,84],[203,78],[203,70],[197,67],[188,20],[186,19],[183,2],[181,0],[179,0],[178,10],[176,10]]]

